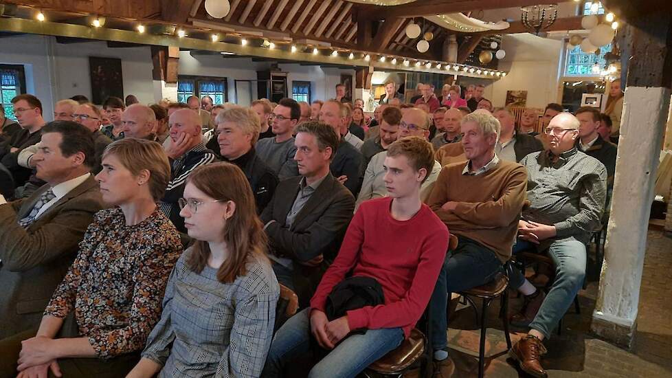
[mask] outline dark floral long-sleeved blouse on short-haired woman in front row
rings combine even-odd
[[[175,226],[158,208],[127,226],[120,208],[100,210],[44,315],[70,311],[102,359],[139,351],[161,316],[161,298],[182,252]]]

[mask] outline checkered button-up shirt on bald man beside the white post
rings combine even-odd
[[[550,151],[531,153],[520,164],[527,168],[530,207],[523,219],[555,225],[553,241],[587,243],[601,227],[607,193],[607,169],[598,160],[572,148],[553,162]]]

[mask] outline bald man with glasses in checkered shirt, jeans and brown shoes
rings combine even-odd
[[[607,193],[605,166],[576,148],[579,120],[560,113],[546,127],[549,151],[531,153],[520,162],[528,171],[529,208],[518,225],[519,243],[548,254],[556,266],[556,279],[546,296],[516,269],[510,287],[526,296],[526,305],[513,321],[529,324],[530,332],[511,348],[520,368],[534,377],[546,377],[540,357],[541,341],[569,309],[585,276],[585,244],[600,225]],[[545,297],[545,298],[544,298]]]

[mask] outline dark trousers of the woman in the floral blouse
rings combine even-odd
[[[0,340],[0,378],[16,377],[18,373],[16,361],[21,352],[21,342],[34,337],[36,333],[37,329],[32,329]],[[139,353],[129,353],[111,359],[63,358],[58,359],[58,366],[64,378],[116,378],[126,376],[139,359]],[[49,371],[49,377],[55,376]]]

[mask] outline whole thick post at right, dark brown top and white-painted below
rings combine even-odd
[[[612,0],[618,7],[632,6]],[[607,4],[607,6],[609,5]],[[616,177],[607,227],[605,261],[592,315],[592,331],[631,347],[647,246],[653,186],[672,85],[672,10],[627,13],[625,104]],[[611,8],[610,8],[611,10]]]

